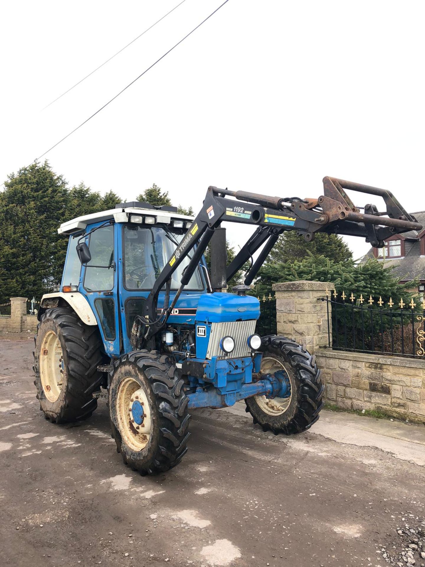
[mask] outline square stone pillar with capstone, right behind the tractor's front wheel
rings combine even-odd
[[[327,346],[328,311],[326,289],[335,289],[329,282],[295,281],[273,284],[276,292],[276,316],[278,335],[293,338],[305,344],[315,353],[320,346]],[[331,306],[329,302],[329,330],[332,337]]]

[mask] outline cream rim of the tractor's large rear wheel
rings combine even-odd
[[[61,341],[54,331],[48,331],[41,341],[40,380],[44,395],[52,403],[61,395],[64,372]]]

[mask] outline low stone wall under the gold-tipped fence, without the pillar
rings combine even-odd
[[[425,360],[318,349],[325,399],[425,423]]]

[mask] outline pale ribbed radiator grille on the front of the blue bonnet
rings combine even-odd
[[[253,335],[257,321],[229,321],[228,323],[211,323],[210,340],[208,342],[207,358],[219,356],[220,358],[239,358],[249,356],[251,349],[247,339]],[[220,341],[223,337],[231,336],[235,341],[235,349],[229,354],[220,349]]]

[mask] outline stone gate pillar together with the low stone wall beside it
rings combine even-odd
[[[333,284],[295,281],[274,284],[278,335],[316,354],[326,384],[325,399],[346,409],[375,409],[425,423],[425,358],[350,353],[329,348]]]

